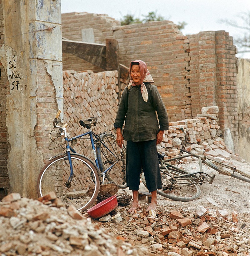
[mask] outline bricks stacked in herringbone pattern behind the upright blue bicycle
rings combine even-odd
[[[95,133],[105,132],[113,128],[118,106],[117,71],[93,73],[92,71],[77,73],[74,70],[63,71],[64,117],[69,124],[67,131],[71,136],[85,133],[88,130],[80,126],[79,121],[89,117],[98,117]],[[87,138],[87,137],[86,137]],[[84,143],[83,143],[84,141]],[[75,146],[81,154],[88,140],[81,140]],[[85,143],[86,142],[86,143]]]

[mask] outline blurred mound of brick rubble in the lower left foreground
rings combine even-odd
[[[52,193],[40,201],[9,194],[0,202],[0,255],[150,255],[114,238]],[[59,207],[59,208],[58,208]]]

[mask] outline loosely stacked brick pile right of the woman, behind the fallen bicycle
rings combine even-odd
[[[221,131],[218,122],[217,106],[203,107],[202,113],[194,119],[169,122],[169,130],[165,131],[161,147],[158,151],[165,152],[166,158],[178,156],[179,148],[185,139],[184,131],[189,132],[186,150],[195,154],[207,154],[213,157],[228,158],[232,153],[219,137]],[[188,159],[185,159],[188,160]]]

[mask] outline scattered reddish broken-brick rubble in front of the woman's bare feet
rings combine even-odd
[[[151,253],[168,256],[250,255],[250,229],[244,223],[248,222],[248,217],[238,216],[237,212],[229,215],[225,209],[216,211],[202,206],[189,212],[158,206],[157,214],[143,209],[131,216],[127,213],[128,208],[118,210],[122,220],[103,222],[103,227],[110,232],[116,230],[115,234],[123,239],[144,244]]]

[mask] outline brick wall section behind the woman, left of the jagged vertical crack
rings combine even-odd
[[[190,118],[187,37],[170,21],[131,24],[114,31],[119,43],[120,62],[129,66],[131,60],[148,65],[154,84],[165,103],[170,120]]]

